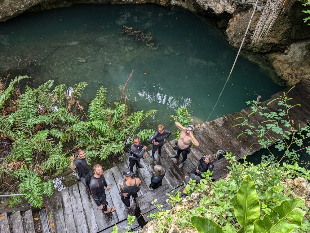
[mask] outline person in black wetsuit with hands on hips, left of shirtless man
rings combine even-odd
[[[170,136],[171,132],[169,130],[166,130],[165,127],[162,124],[158,125],[158,129],[155,130],[155,133],[153,134],[152,137],[148,139],[148,143],[153,144],[153,150],[152,150],[152,156],[151,156],[151,161],[154,161],[154,155],[155,152],[158,148],[158,154],[160,157],[164,157],[161,152],[162,152],[162,145],[164,145],[166,138]]]

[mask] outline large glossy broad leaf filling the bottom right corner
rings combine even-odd
[[[304,203],[305,201],[299,197],[282,201],[280,205],[272,208],[272,212],[265,214],[263,219],[254,222],[253,233],[289,233],[300,227],[306,211],[298,207]]]

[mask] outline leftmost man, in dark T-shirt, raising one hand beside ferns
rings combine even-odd
[[[82,181],[85,188],[89,190],[89,182],[91,180],[91,176],[93,175],[91,172],[91,168],[88,165],[88,161],[85,158],[85,152],[82,149],[77,150],[77,158],[73,164],[74,156],[70,157],[71,164],[70,168],[74,170],[78,168],[78,179]]]

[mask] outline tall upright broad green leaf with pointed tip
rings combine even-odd
[[[234,213],[242,227],[238,232],[252,232],[253,222],[259,218],[260,208],[254,182],[250,179],[250,175],[243,179],[237,191]]]

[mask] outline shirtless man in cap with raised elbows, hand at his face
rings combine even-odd
[[[176,127],[178,127],[181,130],[181,134],[179,137],[179,140],[175,142],[175,147],[173,147],[174,150],[178,150],[175,155],[171,155],[171,158],[178,158],[180,157],[180,154],[182,152],[182,161],[179,164],[179,168],[182,168],[184,166],[185,160],[187,159],[187,155],[189,152],[191,152],[191,142],[195,146],[199,146],[199,142],[193,135],[194,126],[188,125],[187,127],[184,127],[179,122],[175,122]]]

